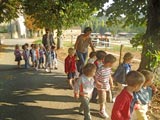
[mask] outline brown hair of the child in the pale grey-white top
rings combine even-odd
[[[96,65],[95,64],[92,64],[92,63],[88,63],[88,64],[86,64],[84,67],[83,67],[83,74],[84,75],[89,75],[91,72],[92,72],[92,70],[96,70]]]

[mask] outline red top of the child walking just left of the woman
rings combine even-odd
[[[65,59],[65,72],[71,73],[76,71],[76,58],[75,56],[67,56]]]

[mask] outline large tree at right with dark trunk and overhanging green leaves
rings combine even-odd
[[[146,25],[145,34],[132,42],[134,45],[143,45],[139,70],[156,67],[160,61],[156,56],[160,50],[160,0],[114,0],[99,15],[103,13],[108,16],[107,22],[110,24],[121,22],[124,18],[126,26]]]

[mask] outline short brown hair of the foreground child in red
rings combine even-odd
[[[128,86],[135,86],[144,83],[144,75],[138,71],[131,71],[126,76],[126,83]]]

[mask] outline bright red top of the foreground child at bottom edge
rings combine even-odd
[[[111,120],[130,120],[130,105],[133,96],[124,88],[117,96],[112,109]]]

